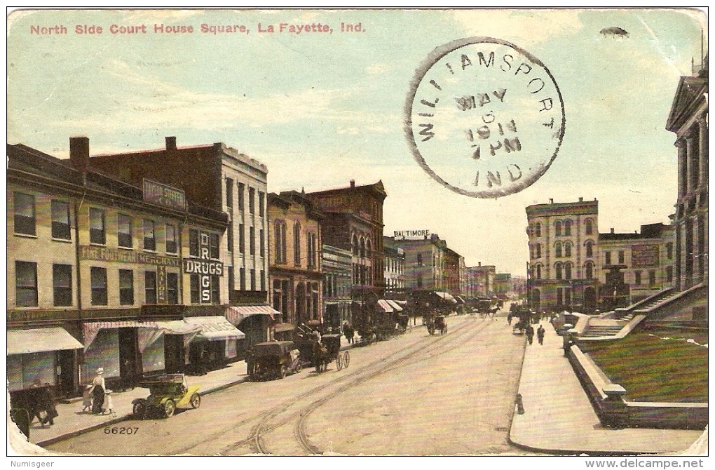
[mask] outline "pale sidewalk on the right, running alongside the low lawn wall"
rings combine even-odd
[[[702,431],[603,428],[563,356],[563,339],[547,321],[542,323],[543,346],[536,336],[532,345],[526,344],[518,391],[524,413],[515,407],[509,433],[512,444],[549,454],[681,454],[701,437]],[[692,451],[695,454],[689,455],[698,455],[707,446]]]

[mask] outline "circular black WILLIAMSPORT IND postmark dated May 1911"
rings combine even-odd
[[[519,192],[556,158],[566,128],[556,80],[536,57],[500,39],[459,39],[420,64],[405,103],[415,160],[471,197]]]

